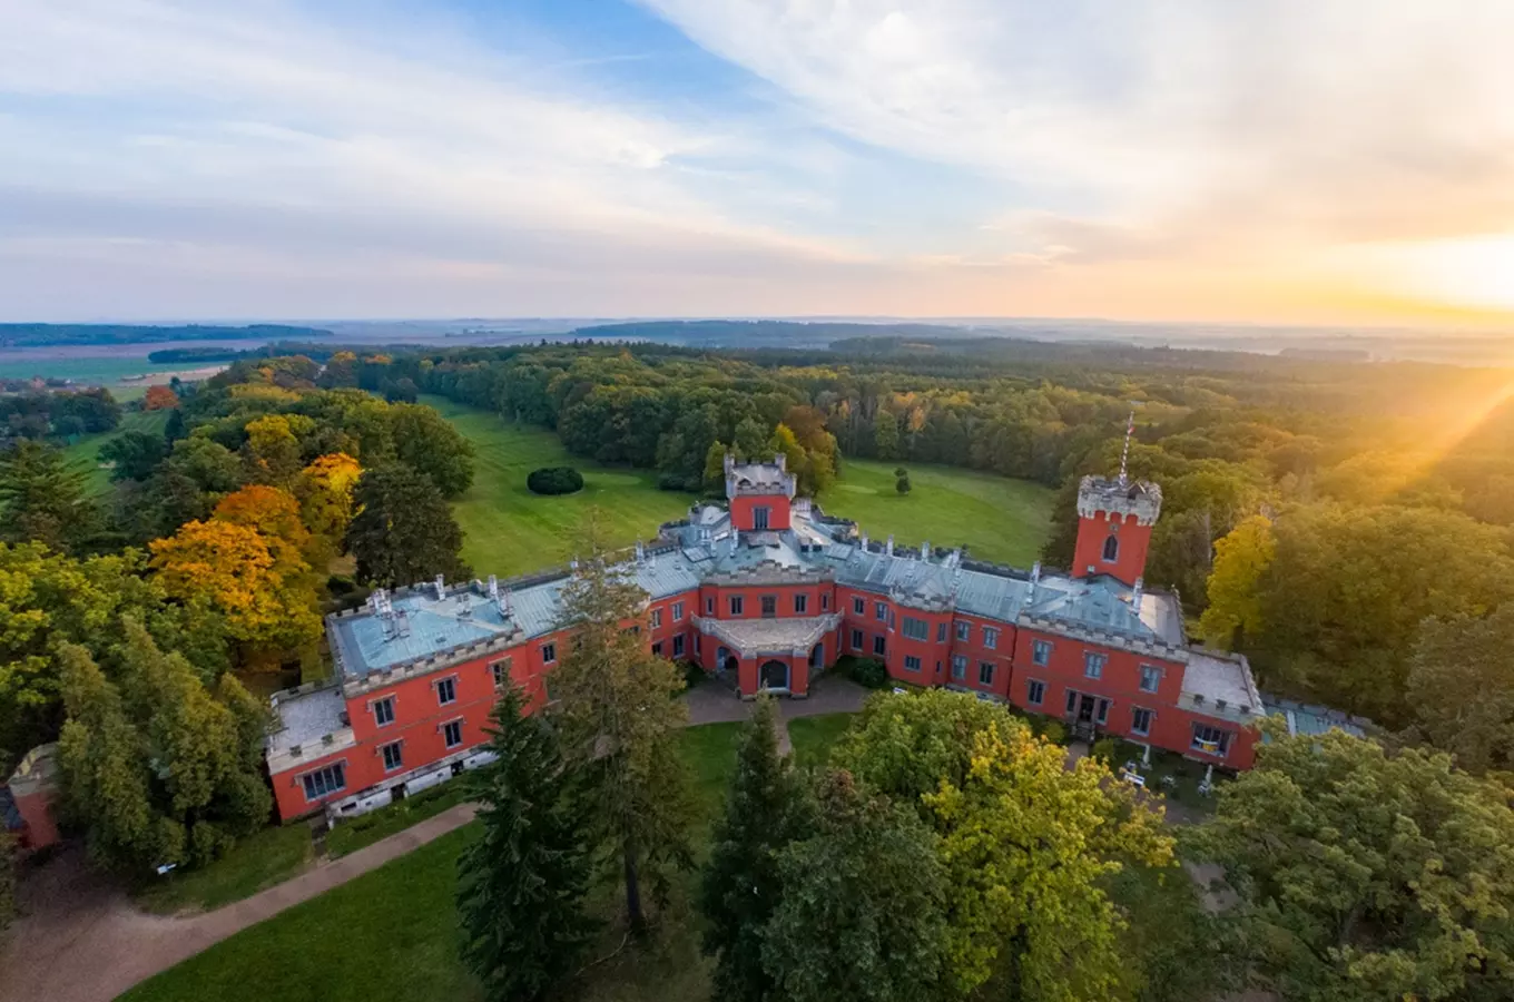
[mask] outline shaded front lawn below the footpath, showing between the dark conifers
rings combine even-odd
[[[736,766],[739,723],[692,727],[680,736],[693,772],[704,825],[724,810],[725,786]],[[312,1002],[389,1002],[480,999],[477,982],[457,958],[457,854],[477,825],[444,836],[415,852],[359,876],[313,901],[218,943],[123,999],[174,1002],[218,999],[309,999]],[[699,917],[690,902],[695,875],[674,881],[657,934],[643,948],[627,948],[595,964],[574,985],[580,1002],[704,1002],[709,961],[698,954]],[[606,917],[619,913],[615,887],[597,893]],[[622,934],[607,928],[593,957],[609,957]]]

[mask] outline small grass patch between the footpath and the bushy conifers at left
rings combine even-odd
[[[159,913],[209,911],[295,876],[309,866],[310,857],[307,825],[263,828],[203,869],[170,873],[144,885],[136,893],[136,904]]]

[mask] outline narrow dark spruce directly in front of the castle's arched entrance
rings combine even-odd
[[[716,957],[715,997],[762,1002],[778,985],[762,966],[762,929],[778,907],[777,857],[816,825],[815,802],[793,766],[778,754],[778,710],[760,696],[742,730],[725,817],[715,825],[715,846],[699,887],[710,925],[704,952]]]

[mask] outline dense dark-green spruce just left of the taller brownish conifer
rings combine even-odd
[[[489,749],[498,760],[474,780],[483,836],[457,861],[462,955],[492,1002],[534,1002],[572,972],[597,925],[583,907],[586,802],[557,734],[527,716],[515,684],[495,704]]]

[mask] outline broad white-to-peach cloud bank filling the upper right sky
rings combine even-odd
[[[1514,227],[1506,0],[643,3],[857,141],[1016,183],[1092,259]]]

